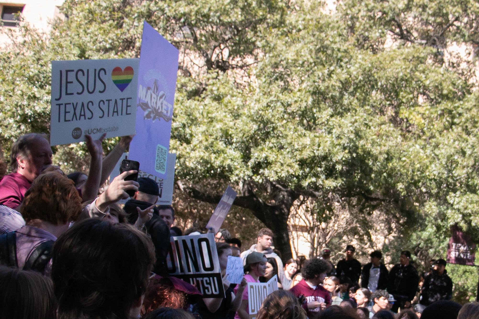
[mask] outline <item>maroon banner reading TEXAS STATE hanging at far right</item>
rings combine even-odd
[[[459,227],[451,227],[452,236],[447,246],[446,261],[450,264],[474,266],[476,244]]]

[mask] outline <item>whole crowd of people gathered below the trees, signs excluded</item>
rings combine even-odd
[[[389,271],[380,251],[362,265],[353,245],[336,265],[328,248],[317,258],[283,260],[267,228],[244,251],[228,230],[208,230],[215,236],[225,296],[204,297],[169,276],[167,267],[171,236],[204,231],[174,226],[174,209],[156,205],[155,181],[125,180],[136,171],[101,187],[131,138],[122,137],[103,156],[103,137],[87,136],[89,174],[68,176],[52,165],[46,136],[25,134],[13,143],[11,172],[0,163],[0,319],[250,319],[247,284],[274,275],[278,290],[264,299],[258,319],[478,316],[479,303],[461,308],[450,301],[444,259],[421,275],[407,250]],[[123,207],[117,204],[127,198]],[[239,284],[227,280],[228,256],[243,261]]]

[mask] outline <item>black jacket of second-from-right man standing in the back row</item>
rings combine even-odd
[[[419,285],[419,275],[413,265],[396,264],[389,272],[388,292],[394,297],[410,301],[416,295]],[[403,297],[401,297],[403,296]]]

